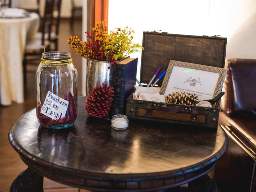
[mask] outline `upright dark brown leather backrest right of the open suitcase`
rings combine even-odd
[[[220,108],[227,115],[256,115],[256,59],[226,59]]]

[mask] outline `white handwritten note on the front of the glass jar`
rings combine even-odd
[[[58,120],[66,115],[67,108],[67,100],[64,100],[48,91],[40,112],[54,120]]]

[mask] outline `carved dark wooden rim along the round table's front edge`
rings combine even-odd
[[[202,176],[214,168],[217,160],[219,160],[228,149],[228,136],[226,132],[225,143],[222,148],[211,158],[200,162],[199,164],[194,164],[182,169],[176,169],[172,171],[165,172],[153,172],[144,174],[108,174],[108,173],[95,173],[86,172],[82,170],[75,170],[72,168],[66,168],[64,166],[54,165],[50,162],[44,161],[37,158],[24,150],[19,144],[14,141],[12,137],[12,128],[10,128],[8,138],[12,147],[18,152],[21,159],[27,164],[32,170],[38,172],[38,174],[55,180],[57,182],[68,184],[75,187],[82,187],[92,190],[103,190],[110,187],[120,187],[127,189],[128,191],[140,190],[142,188],[143,182],[150,182],[151,190],[157,190],[168,188],[170,186],[178,186],[180,184],[189,182]],[[58,178],[58,179],[57,179]],[[168,184],[169,183],[169,184]],[[114,186],[113,186],[114,185]],[[118,186],[120,185],[120,186]],[[122,186],[123,185],[123,186]],[[146,184],[148,185],[148,184]],[[136,187],[137,186],[137,187]],[[104,188],[103,188],[104,187]],[[102,188],[102,189],[100,189]],[[115,190],[113,190],[115,191]],[[116,190],[118,191],[118,190]],[[147,191],[147,189],[145,189]]]

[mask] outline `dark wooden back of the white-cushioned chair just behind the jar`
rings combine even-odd
[[[54,0],[45,0],[44,18],[42,19],[42,45],[44,45],[45,40],[44,34],[47,34],[47,39],[50,39],[50,34],[52,30],[53,10]]]

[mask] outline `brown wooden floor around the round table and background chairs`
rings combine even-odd
[[[73,52],[70,45],[67,44],[67,38],[76,34],[82,36],[82,21],[76,20],[74,23],[74,32],[71,32],[69,20],[61,20],[60,23],[60,40],[59,51],[70,52],[72,54],[73,63],[78,70],[78,96],[81,95],[81,61],[82,58]],[[40,58],[38,58],[38,64]],[[35,67],[30,67],[27,74],[27,84],[25,88],[25,102],[23,104],[13,103],[11,106],[0,105],[0,192],[9,191],[10,185],[20,172],[25,170],[27,166],[20,160],[17,152],[14,151],[8,141],[8,132],[12,124],[27,111],[36,106],[35,91]],[[44,179],[45,192],[77,192],[79,189],[65,186],[47,178]],[[79,190],[80,192],[88,192],[87,190]]]

